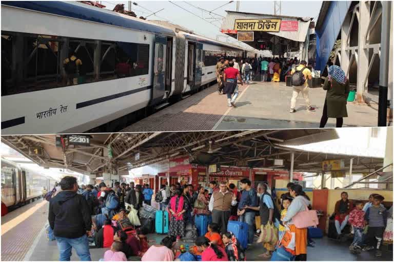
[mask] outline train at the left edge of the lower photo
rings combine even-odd
[[[44,187],[53,189],[55,180],[22,167],[12,161],[1,159],[2,206],[8,210],[29,204],[43,197]]]

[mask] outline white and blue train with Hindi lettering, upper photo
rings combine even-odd
[[[218,57],[257,55],[78,2],[1,5],[3,135],[116,132],[216,81]]]

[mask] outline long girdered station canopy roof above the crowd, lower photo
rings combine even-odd
[[[290,148],[287,145],[338,139],[335,129],[278,129],[223,132],[157,132],[91,134],[90,146],[64,145],[56,147],[56,135],[2,136],[2,142],[43,167],[68,168],[82,173],[117,171],[128,175],[128,170],[170,158],[189,156],[191,163],[208,165],[289,169],[294,152],[294,170],[320,172],[322,161],[343,159],[353,171],[375,171],[383,165],[382,158],[326,154]],[[42,147],[42,156],[29,154],[30,147]],[[112,158],[108,148],[111,148]],[[283,160],[281,166],[275,159]]]

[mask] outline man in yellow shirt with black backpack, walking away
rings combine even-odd
[[[295,102],[302,93],[306,103],[306,112],[314,112],[315,108],[310,106],[308,79],[312,79],[312,73],[306,68],[306,61],[302,60],[298,67],[291,70],[291,83],[293,85],[293,96],[291,98],[290,113],[295,113]]]

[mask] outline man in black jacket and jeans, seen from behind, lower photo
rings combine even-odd
[[[74,177],[64,177],[61,192],[49,202],[48,220],[56,238],[61,261],[70,261],[71,249],[83,261],[90,261],[87,236],[91,235],[92,220],[88,204],[77,194],[78,184]]]

